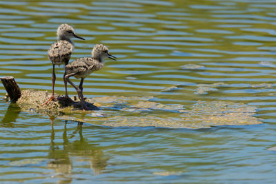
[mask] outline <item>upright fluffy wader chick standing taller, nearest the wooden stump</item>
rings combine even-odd
[[[50,99],[48,99],[48,101],[46,101],[42,105],[45,105],[49,101],[56,99],[54,96],[56,81],[55,65],[68,64],[72,54],[72,50],[74,50],[74,43],[70,40],[73,37],[85,40],[75,33],[74,28],[72,28],[71,25],[68,25],[67,23],[62,23],[61,25],[59,25],[59,28],[57,28],[57,41],[55,43],[52,43],[50,49],[48,50],[48,58],[50,59],[50,61],[52,61],[52,94],[50,96]],[[66,73],[64,73],[63,75],[63,81],[65,75]],[[64,84],[66,85],[67,83],[65,83],[64,81]],[[70,99],[68,94],[65,97],[67,99]]]

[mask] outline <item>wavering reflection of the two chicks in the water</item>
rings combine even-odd
[[[48,158],[50,159],[48,161],[48,168],[55,171],[52,177],[61,178],[60,182],[62,183],[70,183],[72,181],[73,164],[79,165],[77,162],[89,162],[93,175],[103,173],[108,165],[108,157],[104,156],[103,151],[99,150],[95,144],[88,143],[88,139],[83,138],[82,123],[77,122],[76,130],[68,135],[68,122],[66,121],[63,128],[63,143],[61,146],[55,143],[54,119],[55,117],[50,117],[52,132],[48,154]],[[79,135],[79,139],[75,138],[77,134]]]

